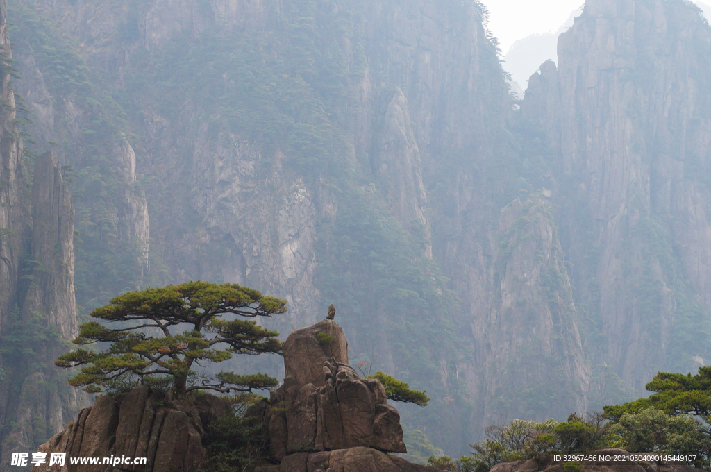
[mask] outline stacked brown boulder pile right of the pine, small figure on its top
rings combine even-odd
[[[335,321],[294,331],[283,352],[287,377],[269,402],[274,460],[354,447],[407,452],[400,414],[379,380],[360,378],[348,365],[348,343]]]

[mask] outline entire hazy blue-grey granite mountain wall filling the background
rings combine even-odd
[[[564,418],[705,363],[693,6],[587,1],[514,103],[476,1],[110,3],[13,7],[32,149],[75,168],[85,308],[231,281],[286,298],[288,332],[334,303],[351,361],[426,387],[404,421],[456,454],[501,417]],[[27,193],[12,146],[0,198]],[[33,239],[11,198],[12,281]]]

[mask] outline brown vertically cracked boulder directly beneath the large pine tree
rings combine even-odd
[[[210,397],[210,398],[208,398]],[[205,395],[196,404],[169,402],[149,387],[122,395],[105,395],[82,409],[73,425],[38,448],[44,453],[65,452],[67,457],[145,457],[146,464],[121,466],[130,472],[194,472],[204,468],[207,451],[202,435],[225,414],[227,405]],[[204,421],[204,422],[203,422]],[[33,472],[111,472],[108,464],[63,468],[33,466]]]

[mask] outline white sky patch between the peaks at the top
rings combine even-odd
[[[517,39],[533,33],[555,33],[583,0],[483,0],[488,28],[501,44],[501,53]]]

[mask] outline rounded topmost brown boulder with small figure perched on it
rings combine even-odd
[[[348,365],[348,341],[343,328],[333,320],[323,320],[292,331],[284,342],[284,370],[299,385],[324,385],[324,362],[335,358]]]

